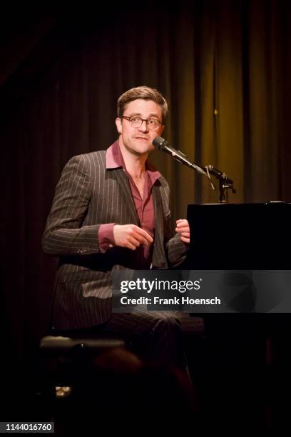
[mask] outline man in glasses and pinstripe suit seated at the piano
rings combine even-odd
[[[126,269],[168,268],[183,258],[188,221],[170,238],[168,184],[148,163],[153,139],[164,129],[168,105],[146,86],[118,99],[119,139],[107,151],[74,156],[56,187],[43,237],[59,256],[53,327],[95,327],[136,338],[141,356],[183,366],[181,326],[175,313],[112,313],[111,278]],[[134,344],[134,339],[133,339]]]

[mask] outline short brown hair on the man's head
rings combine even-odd
[[[123,93],[117,102],[117,116],[122,117],[126,109],[126,105],[129,102],[137,99],[153,100],[155,103],[160,105],[160,109],[163,114],[163,122],[165,121],[165,116],[168,114],[168,104],[165,98],[157,89],[149,88],[148,86],[136,86],[136,88],[128,89]]]

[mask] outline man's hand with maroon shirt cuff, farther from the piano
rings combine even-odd
[[[135,251],[141,244],[148,246],[153,243],[150,234],[136,225],[114,225],[113,236],[116,246],[127,247]]]

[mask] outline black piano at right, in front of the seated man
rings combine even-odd
[[[188,206],[187,218],[190,249],[181,269],[291,268],[289,203],[194,204]],[[261,366],[270,359],[266,358],[266,338],[277,339],[272,353],[277,348],[278,363],[290,356],[290,313],[193,314],[198,315],[205,319],[206,337],[218,364]]]

